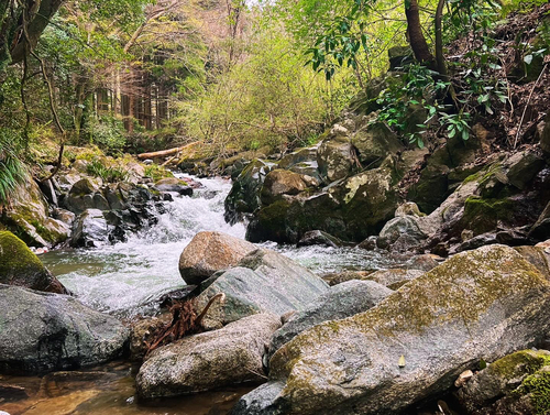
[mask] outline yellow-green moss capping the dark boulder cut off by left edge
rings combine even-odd
[[[13,276],[30,267],[43,269],[38,260],[26,244],[8,231],[0,232],[0,275]]]

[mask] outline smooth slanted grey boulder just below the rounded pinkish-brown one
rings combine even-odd
[[[201,310],[218,293],[226,294],[215,303],[205,319],[207,327],[219,327],[258,313],[283,315],[301,310],[329,286],[309,270],[270,250],[258,249],[210,282],[197,297]]]

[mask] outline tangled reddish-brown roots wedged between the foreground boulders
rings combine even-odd
[[[185,336],[201,332],[205,330],[202,320],[205,319],[208,309],[219,299],[222,303],[226,299],[226,294],[216,294],[205,309],[197,316],[195,313],[195,301],[189,299],[183,303],[176,303],[170,307],[172,321],[164,326],[158,334],[154,335],[151,345],[147,345],[145,358],[156,348],[166,346],[173,341],[179,340]]]

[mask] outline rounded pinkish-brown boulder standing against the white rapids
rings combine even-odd
[[[221,232],[199,232],[179,256],[179,273],[189,285],[198,285],[216,271],[234,266],[256,247]]]

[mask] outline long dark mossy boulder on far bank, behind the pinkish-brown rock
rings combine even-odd
[[[262,208],[250,222],[251,242],[298,242],[310,230],[322,230],[343,241],[377,234],[402,201],[395,188],[395,161],[373,168],[309,197],[282,199]]]

